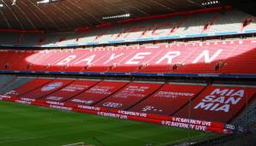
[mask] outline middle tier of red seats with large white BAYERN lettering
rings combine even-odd
[[[58,73],[256,73],[256,39],[101,47],[1,50],[0,70]]]

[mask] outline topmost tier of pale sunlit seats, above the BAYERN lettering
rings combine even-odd
[[[239,10],[222,10],[96,26],[76,32],[0,33],[0,45],[77,46],[113,44],[171,38],[197,38],[256,32],[252,15]]]

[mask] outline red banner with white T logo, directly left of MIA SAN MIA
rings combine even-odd
[[[204,86],[168,83],[129,110],[139,113],[174,115],[192,98],[198,96]]]

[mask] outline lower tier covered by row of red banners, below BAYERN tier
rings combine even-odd
[[[246,85],[19,77],[5,91],[0,98],[220,123],[234,120],[256,96],[256,87]]]

